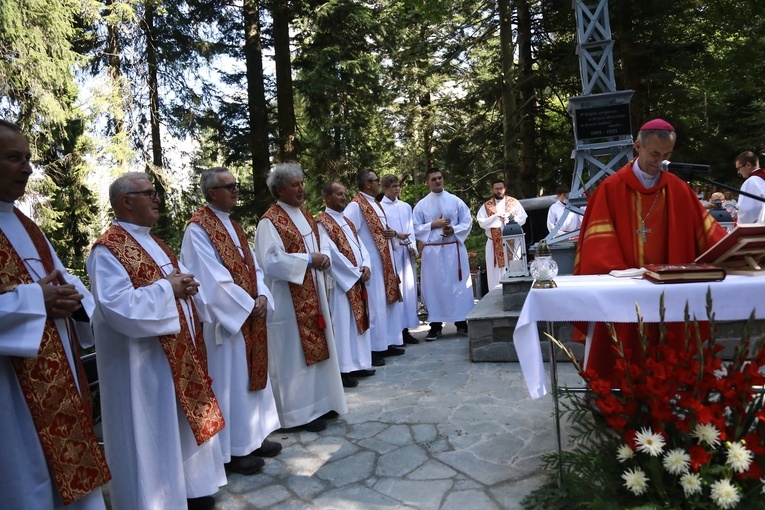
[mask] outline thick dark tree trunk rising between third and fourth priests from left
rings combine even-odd
[[[269,203],[266,177],[271,166],[268,143],[268,107],[263,84],[263,50],[260,42],[260,2],[244,0],[244,59],[247,67],[247,106],[250,114],[253,206],[265,212]]]

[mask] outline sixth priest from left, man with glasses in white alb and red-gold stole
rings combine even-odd
[[[370,168],[356,175],[359,192],[353,197],[345,216],[353,222],[372,262],[372,277],[367,283],[372,335],[372,365],[382,366],[387,356],[401,356],[406,351],[397,345],[401,340],[401,286],[393,254],[396,231],[388,225],[382,206],[375,197],[380,193],[380,179]]]

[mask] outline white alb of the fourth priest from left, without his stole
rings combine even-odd
[[[303,235],[308,253],[287,253],[276,228],[267,219],[260,220],[255,233],[255,255],[263,269],[266,285],[274,297],[274,313],[268,323],[268,370],[276,397],[276,409],[283,427],[297,427],[329,411],[348,412],[340,379],[337,349],[332,334],[332,319],[327,301],[324,273],[312,269],[319,307],[327,328],[324,335],[329,359],[311,366],[305,364],[290,283],[302,284],[310,253],[317,251],[317,240],[301,210],[277,202]],[[329,238],[321,234],[321,253],[330,256]]]

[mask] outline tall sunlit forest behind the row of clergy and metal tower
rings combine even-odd
[[[765,145],[759,2],[609,10],[633,132],[663,117],[674,160],[740,184],[733,159]],[[438,166],[474,213],[496,177],[517,198],[554,193],[574,168],[576,39],[571,0],[0,0],[0,117],[28,135],[25,202],[77,271],[129,170],[154,177],[154,232],[175,248],[211,166],[242,183],[250,231],[280,161],[304,168],[313,213],[331,180],[355,194],[363,167],[405,179],[414,204]]]

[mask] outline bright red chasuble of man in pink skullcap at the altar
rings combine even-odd
[[[579,235],[574,274],[606,274],[645,264],[687,264],[725,237],[690,186],[669,172],[645,188],[629,162],[604,180],[589,199]],[[625,352],[634,358],[634,324],[614,324]],[[658,338],[658,325],[647,325]],[[668,324],[668,341],[684,342],[684,324]],[[587,368],[613,373],[615,347],[605,324],[595,325]]]

